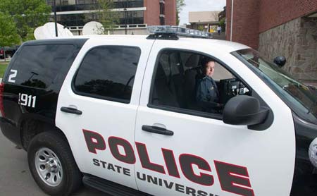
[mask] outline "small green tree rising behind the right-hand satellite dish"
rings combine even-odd
[[[114,8],[113,0],[97,0],[94,7],[96,17],[103,27],[99,27],[99,34],[108,34],[108,31],[113,33],[114,25],[118,23],[119,15],[116,11],[111,11]]]

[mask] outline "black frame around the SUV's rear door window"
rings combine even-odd
[[[131,99],[132,99],[132,94],[133,94],[133,86],[132,86],[132,92],[131,92],[131,96],[130,96],[130,100],[125,100],[125,99],[119,99],[119,98],[114,98],[114,97],[106,97],[106,96],[101,96],[101,95],[97,95],[97,94],[89,94],[89,93],[85,93],[85,92],[78,92],[77,90],[75,90],[75,78],[77,77],[78,71],[80,70],[80,67],[82,66],[82,62],[85,60],[87,54],[89,54],[90,51],[92,51],[93,49],[97,49],[97,48],[102,48],[102,47],[125,47],[125,48],[134,48],[134,49],[138,49],[139,50],[139,60],[141,59],[142,56],[142,49],[140,47],[136,47],[136,46],[125,46],[125,45],[99,45],[99,46],[95,46],[92,47],[90,49],[88,49],[85,53],[85,55],[83,56],[82,60],[80,61],[80,65],[78,66],[75,74],[73,75],[72,81],[71,81],[71,88],[72,91],[80,96],[83,97],[89,97],[89,98],[94,98],[94,99],[101,99],[101,100],[106,100],[106,101],[110,101],[110,102],[117,102],[117,103],[122,103],[122,104],[130,104]],[[139,61],[137,61],[137,67],[139,66]],[[137,74],[137,69],[135,71],[135,75]]]

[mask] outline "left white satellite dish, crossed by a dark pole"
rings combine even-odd
[[[57,23],[58,37],[73,37],[73,33],[63,25]],[[42,27],[37,27],[34,32],[35,39],[53,39],[56,38],[55,23],[46,23]]]

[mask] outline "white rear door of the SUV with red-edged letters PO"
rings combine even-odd
[[[135,120],[152,42],[89,39],[75,59],[59,95],[56,125],[82,173],[137,189]]]

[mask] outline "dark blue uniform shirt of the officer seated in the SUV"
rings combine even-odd
[[[219,92],[213,78],[205,76],[199,82],[196,93],[197,102],[219,102]]]

